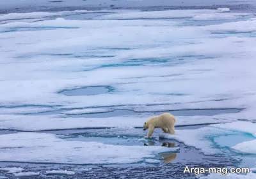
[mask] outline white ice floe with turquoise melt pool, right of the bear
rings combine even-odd
[[[215,129],[214,129],[215,128]],[[211,127],[202,127],[200,129],[186,129],[186,130],[177,130],[176,134],[159,134],[159,138],[168,138],[184,142],[186,145],[193,146],[195,148],[200,148],[205,154],[220,154],[221,147],[216,146],[220,143],[225,143],[225,138],[230,140],[228,136],[234,135],[235,131],[246,132],[254,134],[255,124],[250,122],[231,122],[225,124],[214,124]],[[242,134],[240,134],[242,135]],[[221,140],[218,139],[218,136],[224,136]],[[253,138],[246,138],[248,141],[243,141],[239,143],[239,140],[235,143],[235,146],[229,146],[228,144],[225,147],[233,148],[237,151],[243,153],[256,154],[256,140]],[[227,143],[227,142],[226,142]]]

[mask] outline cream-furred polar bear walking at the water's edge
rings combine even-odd
[[[163,113],[161,115],[151,117],[143,125],[143,130],[148,129],[147,138],[150,138],[155,128],[161,128],[164,132],[175,134],[174,124],[175,117],[170,113]]]

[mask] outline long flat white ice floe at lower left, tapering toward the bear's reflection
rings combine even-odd
[[[0,135],[0,161],[67,164],[122,164],[144,161],[159,152],[177,150],[159,146],[106,145],[67,141],[54,134],[18,132]],[[16,172],[16,171],[15,171]]]

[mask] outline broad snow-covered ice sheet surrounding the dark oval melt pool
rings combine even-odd
[[[197,12],[200,14],[200,10]],[[165,14],[172,11],[146,13],[164,18]],[[218,14],[209,11],[209,14],[211,13]],[[237,18],[236,14],[233,17]],[[230,23],[239,24],[243,21]],[[221,25],[225,27],[225,24],[228,23]],[[254,24],[253,20],[250,20],[250,24]],[[236,25],[232,28],[236,30],[242,28],[241,26],[244,27],[244,25]],[[210,99],[228,96],[229,101],[218,101],[214,106],[222,106],[228,102],[240,108],[248,106],[248,103],[243,103],[243,100],[238,100],[237,97],[245,99],[246,96],[253,96],[253,94],[237,95],[241,94],[241,91],[253,90],[248,85],[249,82],[244,84],[244,78],[255,75],[252,70],[254,51],[250,46],[255,43],[255,39],[214,38],[211,35],[214,27],[211,25],[182,26],[182,23],[172,20],[65,20],[63,18],[0,25],[0,29],[6,30],[10,27],[18,30],[0,34],[1,44],[4,44],[1,45],[3,57],[1,86],[4,88],[0,91],[1,94],[5,94],[1,96],[2,106],[47,104],[71,108],[181,103],[185,107],[190,103],[201,107],[204,103],[193,102],[205,100],[205,103],[209,103]],[[24,27],[27,28],[26,31],[19,31],[19,28]],[[31,27],[39,30],[41,27],[53,29],[49,31],[41,29],[38,36],[37,31],[28,29]],[[77,29],[68,29],[69,27]],[[213,46],[214,49],[211,48]],[[14,48],[15,52],[13,52]],[[240,61],[241,57],[246,58],[246,63]],[[134,64],[130,65],[129,61]],[[179,65],[180,63],[182,65]],[[239,69],[242,63],[244,68]],[[228,71],[225,66],[230,66]],[[221,78],[218,74],[222,74]],[[234,81],[232,79],[236,74],[239,76],[236,76]],[[51,81],[47,80],[50,76]],[[248,81],[250,79],[247,78]],[[198,93],[198,86],[202,83],[205,85]],[[216,83],[218,85],[214,85]],[[243,83],[243,89],[237,88],[237,83]],[[116,92],[79,97],[56,93],[72,87],[109,84],[114,85]]]

